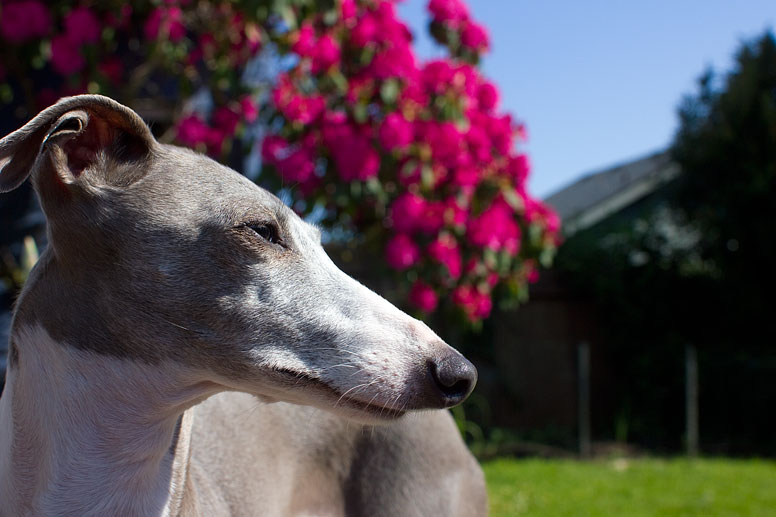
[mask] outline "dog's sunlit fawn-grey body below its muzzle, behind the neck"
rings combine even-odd
[[[277,505],[268,515],[316,507],[345,515],[487,514],[482,470],[448,411],[365,426],[222,393],[196,407],[194,427],[193,461],[208,465],[222,487],[266,492],[262,504]],[[243,474],[230,479],[232,472]]]

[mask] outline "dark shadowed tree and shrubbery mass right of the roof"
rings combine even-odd
[[[702,449],[775,454],[773,34],[744,44],[729,73],[706,72],[679,123],[678,178],[559,250],[559,269],[596,303],[607,336],[614,389],[597,432],[679,449],[692,344]]]

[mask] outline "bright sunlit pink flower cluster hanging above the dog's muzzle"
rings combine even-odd
[[[527,192],[524,128],[469,59],[488,49],[485,30],[461,0],[428,7],[448,59],[418,62],[390,0],[342,0],[336,19],[290,31],[298,60],[273,90],[267,109],[283,124],[262,156],[297,187],[297,207],[323,206],[330,222],[378,235],[417,309],[446,300],[478,321],[498,290],[520,297],[535,281],[559,221]]]

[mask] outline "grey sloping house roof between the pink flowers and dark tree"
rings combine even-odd
[[[632,205],[679,174],[668,151],[587,174],[545,201],[563,221],[565,235],[596,224]]]

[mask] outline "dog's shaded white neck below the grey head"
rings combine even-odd
[[[39,325],[12,339],[20,353],[0,399],[2,510],[174,514],[191,427],[181,416],[213,386],[181,367],[76,350]]]

